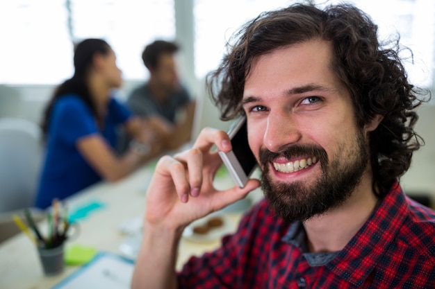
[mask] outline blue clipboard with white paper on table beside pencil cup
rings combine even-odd
[[[110,252],[99,252],[90,263],[69,275],[52,289],[128,289],[134,262]]]

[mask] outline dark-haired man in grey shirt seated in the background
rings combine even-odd
[[[174,42],[156,40],[142,52],[149,80],[131,91],[127,105],[158,128],[156,146],[175,150],[190,141],[195,102],[181,85]],[[124,141],[125,142],[125,141]]]

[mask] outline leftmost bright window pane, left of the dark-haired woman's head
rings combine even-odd
[[[67,11],[57,0],[0,4],[0,83],[60,82],[72,71]]]

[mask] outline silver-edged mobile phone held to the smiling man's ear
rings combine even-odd
[[[249,176],[256,168],[257,162],[247,141],[246,117],[238,119],[227,132],[233,147],[229,152],[219,151],[220,158],[229,170],[234,182],[240,188],[247,183]]]

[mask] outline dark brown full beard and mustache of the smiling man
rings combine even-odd
[[[339,152],[345,151],[342,145]],[[277,157],[317,157],[321,175],[313,184],[305,182],[273,182],[270,177],[271,161]],[[285,222],[305,221],[326,213],[343,204],[361,182],[369,161],[367,140],[363,132],[357,133],[354,146],[343,157],[335,156],[329,163],[327,152],[320,146],[290,146],[282,152],[261,149],[263,167],[261,187],[274,212]]]

